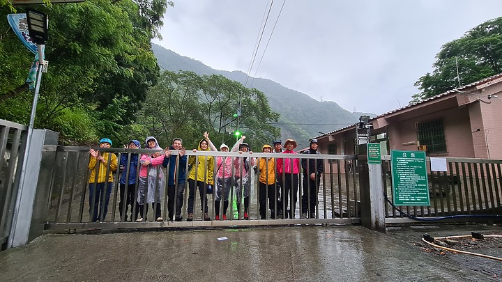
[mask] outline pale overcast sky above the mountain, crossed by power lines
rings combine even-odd
[[[174,0],[154,42],[248,73],[271,2]],[[496,0],[287,0],[279,13],[283,3],[273,1],[250,75],[377,114],[408,104],[441,45],[502,16]]]

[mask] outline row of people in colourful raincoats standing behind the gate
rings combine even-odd
[[[121,154],[120,166],[123,168],[119,180],[119,214],[121,221],[128,221],[129,207],[131,209],[130,221],[146,221],[149,205],[151,205],[155,213],[154,220],[164,221],[161,212],[161,201],[166,175],[161,166],[167,169],[167,210],[169,220],[171,221],[183,220],[181,208],[183,206],[183,192],[185,191],[187,182],[189,191],[187,221],[194,219],[194,202],[197,190],[199,190],[201,201],[202,219],[206,221],[211,220],[208,214],[207,195],[213,194],[213,187],[215,187],[215,220],[227,219],[229,195],[233,187],[235,187],[239,218],[241,218],[241,200],[243,200],[243,219],[249,219],[250,191],[252,183],[254,183],[254,170],[259,171],[259,214],[261,219],[266,219],[267,199],[268,207],[271,210],[271,218],[276,218],[276,215],[277,217],[282,217],[282,207],[286,207],[286,209],[288,207],[288,195],[291,195],[292,202],[287,212],[284,212],[284,216],[285,218],[294,218],[300,159],[261,157],[259,158],[259,162],[257,162],[257,158],[251,157],[252,151],[250,150],[250,146],[244,143],[244,140],[245,136],[241,136],[241,139],[238,139],[231,150],[229,150],[229,147],[225,143],[222,143],[220,146],[220,151],[239,152],[243,154],[242,157],[218,156],[216,162],[214,162],[215,159],[212,155],[192,155],[187,159],[182,140],[179,138],[173,139],[172,145],[162,150],[158,145],[157,139],[149,136],[145,140],[145,148],[155,150],[152,154]],[[281,142],[278,142],[280,145]],[[317,145],[317,140],[315,140],[315,143]],[[100,148],[109,148],[112,146],[112,141],[101,139],[99,146]],[[261,148],[261,151],[267,153],[296,154],[294,152],[296,141],[292,139],[288,139],[284,143],[286,150],[282,150],[281,146],[277,146],[276,142],[274,142],[274,147],[275,149],[266,144]],[[131,140],[128,146],[124,148],[139,149],[141,146],[139,141]],[[315,148],[317,152],[317,146]],[[211,142],[206,132],[204,133],[204,139],[199,141],[197,149],[192,151],[210,150],[217,151],[217,148]],[[312,142],[310,151],[312,151]],[[89,214],[91,222],[99,222],[104,221],[107,214],[108,202],[113,187],[112,172],[117,169],[118,159],[111,152],[100,153],[99,150],[93,149],[89,150],[89,152],[91,153],[89,161],[89,169],[91,170],[89,178]],[[293,163],[291,164],[291,162]],[[217,167],[213,167],[214,165]],[[316,164],[315,167],[319,172],[315,174],[315,178],[317,178],[322,172],[322,163]],[[188,171],[186,168],[188,168]],[[139,175],[137,175],[138,171]],[[307,169],[307,171],[309,170]],[[310,171],[313,171],[313,169],[310,169]],[[188,180],[186,174],[188,174]],[[306,176],[309,179],[309,175]],[[310,178],[310,180],[315,180],[315,178]],[[314,186],[314,191],[307,191],[307,193],[317,194],[319,181],[315,181],[314,183],[315,185],[307,185],[308,187]],[[316,187],[317,190],[315,189]],[[314,205],[317,205],[317,202],[312,202],[307,206]],[[305,210],[305,207],[303,207],[303,210]],[[310,217],[312,218],[312,215]]]

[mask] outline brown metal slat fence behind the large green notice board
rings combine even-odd
[[[382,162],[383,189],[386,195],[386,222],[406,223],[420,219],[461,219],[477,221],[502,214],[502,160],[446,158],[447,171],[431,171],[427,157],[430,205],[393,206],[390,156]]]

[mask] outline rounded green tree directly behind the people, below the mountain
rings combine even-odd
[[[221,75],[204,75],[195,72],[162,73],[157,85],[150,89],[138,123],[158,137],[162,145],[180,137],[187,148],[196,148],[203,132],[209,132],[215,143],[231,144],[236,140],[237,101],[243,107],[239,130],[249,143],[269,143],[273,136],[280,136],[280,129],[270,123],[277,122],[279,114],[271,111],[264,93],[245,88]],[[129,130],[129,128],[127,129]],[[124,136],[130,134],[124,132]]]

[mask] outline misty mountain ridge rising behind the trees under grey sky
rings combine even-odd
[[[153,43],[152,50],[163,70],[172,72],[188,70],[197,75],[222,75],[241,84],[245,84],[248,77],[240,70],[231,72],[215,70],[201,61],[181,56]],[[252,81],[253,88],[257,88],[266,95],[271,109],[280,113],[276,126],[281,129],[282,141],[295,139],[298,142],[298,148],[306,148],[308,140],[321,135],[321,132],[333,132],[357,123],[362,115],[376,116],[374,113],[347,111],[333,101],[320,102],[305,93],[287,88],[270,79],[249,77],[249,81]]]

